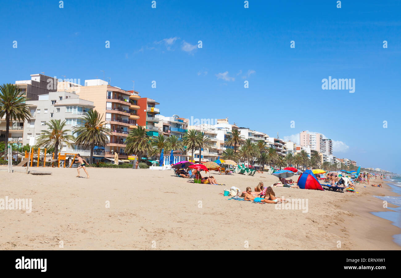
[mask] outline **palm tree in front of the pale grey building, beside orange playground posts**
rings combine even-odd
[[[75,141],[75,137],[72,135],[64,135],[65,133],[71,131],[69,129],[64,129],[65,121],[61,120],[50,120],[47,122],[47,130],[41,130],[41,135],[38,136],[35,148],[44,146],[45,148],[54,148],[55,157],[59,157],[59,145],[63,148],[63,143],[71,147],[70,141]]]

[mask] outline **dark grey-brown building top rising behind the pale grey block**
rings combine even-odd
[[[31,74],[30,80],[16,80],[15,85],[28,100],[38,100],[40,95],[57,91],[57,78],[44,74]]]

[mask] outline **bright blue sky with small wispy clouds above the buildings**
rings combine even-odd
[[[45,72],[83,84],[105,70],[113,86],[135,80],[165,116],[320,132],[337,157],[397,172],[401,1],[151,2],[3,2],[0,83]],[[355,92],[322,90],[328,76],[355,79]]]

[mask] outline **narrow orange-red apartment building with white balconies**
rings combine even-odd
[[[138,100],[138,105],[140,106],[140,109],[138,109],[138,125],[146,129],[151,139],[159,135],[159,128],[155,126],[159,122],[156,117],[157,114],[160,114],[159,108],[156,108],[158,104],[160,103],[151,98],[139,98]]]

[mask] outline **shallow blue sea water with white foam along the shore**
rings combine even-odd
[[[401,177],[391,177],[391,179],[385,179],[385,181],[391,188],[391,191],[401,195]],[[371,183],[373,180],[371,181]],[[375,180],[376,182],[376,180]],[[379,180],[376,182],[379,184]],[[373,215],[379,216],[381,218],[390,220],[393,225],[401,228],[401,196],[375,196],[383,201],[391,203],[397,208],[387,208],[388,211],[385,212],[372,212]],[[401,246],[401,234],[396,234],[393,236],[394,241]]]

